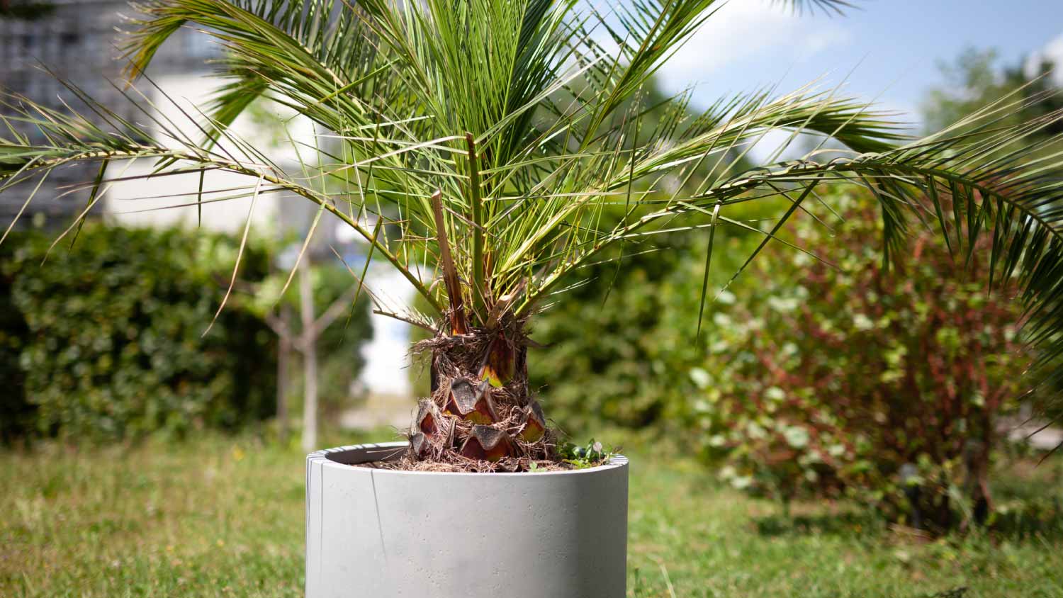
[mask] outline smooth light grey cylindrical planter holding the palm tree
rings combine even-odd
[[[625,595],[627,459],[522,474],[351,466],[405,446],[307,457],[307,598]]]

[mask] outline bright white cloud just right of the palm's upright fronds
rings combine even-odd
[[[680,88],[706,82],[730,64],[764,55],[800,63],[848,39],[839,19],[796,16],[769,0],[732,0],[687,41],[661,75],[668,87]]]

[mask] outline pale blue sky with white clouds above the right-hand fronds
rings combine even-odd
[[[817,78],[824,87],[846,81],[848,93],[877,97],[915,121],[928,87],[943,81],[939,62],[966,47],[996,48],[1008,65],[1046,49],[1063,59],[1063,0],[856,3],[844,17],[827,17],[730,0],[665,67],[662,83],[671,90],[697,83],[695,103],[706,105],[765,84],[789,91]]]

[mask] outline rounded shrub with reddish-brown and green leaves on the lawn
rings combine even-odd
[[[937,230],[884,271],[872,200],[837,203],[846,222],[829,243],[807,216],[794,226],[798,245],[840,247],[827,254],[840,268],[770,249],[715,315],[710,356],[691,370],[692,421],[736,485],[847,495],[893,516],[914,503],[947,527],[958,509],[989,507],[995,427],[1028,361],[1019,306],[1007,285],[986,291],[988,247],[965,268]]]

